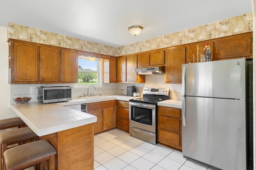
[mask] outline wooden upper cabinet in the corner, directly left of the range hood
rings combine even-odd
[[[117,82],[145,82],[145,75],[138,75],[135,72],[137,68],[137,55],[127,55],[117,57]]]

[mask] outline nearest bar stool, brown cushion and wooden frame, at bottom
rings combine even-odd
[[[4,170],[24,170],[39,164],[41,170],[43,162],[48,161],[48,170],[55,168],[56,150],[46,140],[39,140],[13,147],[4,152]],[[49,162],[50,161],[50,162]]]

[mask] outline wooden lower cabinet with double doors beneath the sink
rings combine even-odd
[[[87,111],[97,117],[94,134],[116,127],[116,100],[88,103]]]

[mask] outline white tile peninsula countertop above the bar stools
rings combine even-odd
[[[38,136],[49,135],[97,121],[97,117],[94,115],[59,104],[28,102],[27,104],[11,104],[10,107]]]

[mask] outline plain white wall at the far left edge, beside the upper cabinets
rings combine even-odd
[[[8,43],[6,27],[0,26],[0,119],[17,117],[10,109],[10,84],[8,84]]]

